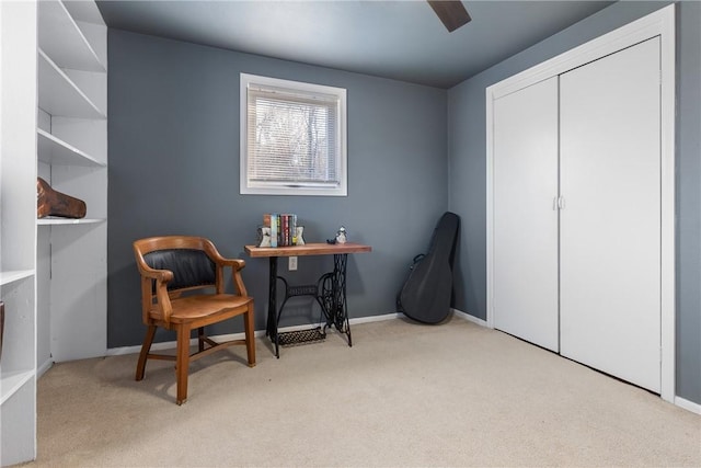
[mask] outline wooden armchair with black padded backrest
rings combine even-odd
[[[227,346],[245,344],[249,367],[255,366],[253,298],[248,296],[241,278],[243,260],[225,259],[209,240],[186,236],[137,240],[134,253],[141,274],[141,312],[148,327],[136,367],[137,380],[143,379],[148,358],[175,361],[176,403],[182,404],[187,399],[191,361]],[[225,266],[232,267],[235,294],[225,294]],[[245,340],[217,343],[205,335],[205,326],[241,315]],[[175,356],[150,352],[157,327],[177,333]],[[198,351],[191,354],[193,329],[197,329]]]

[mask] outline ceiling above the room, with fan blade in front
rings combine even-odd
[[[97,0],[110,27],[450,88],[612,1],[464,1],[448,33],[424,0]]]

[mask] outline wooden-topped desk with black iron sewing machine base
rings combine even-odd
[[[370,246],[360,243],[307,243],[294,247],[255,247],[244,246],[244,249],[252,258],[266,256],[269,259],[268,275],[268,308],[266,334],[275,344],[275,356],[280,357],[279,334],[277,326],[283,313],[283,308],[287,299],[295,296],[313,296],[324,313],[326,323],[320,332],[320,338],[326,335],[326,328],[335,327],[348,338],[348,346],[353,346],[350,336],[350,323],[348,321],[348,309],[346,305],[346,263],[348,253],[370,252]],[[306,256],[306,255],[333,255],[333,272],[324,273],[319,278],[317,285],[290,286],[281,276],[277,274],[277,259],[279,256]],[[285,283],[285,299],[277,308],[277,281]]]

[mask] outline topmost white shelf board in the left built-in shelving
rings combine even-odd
[[[39,47],[61,68],[105,71],[97,54],[59,0],[38,2]]]

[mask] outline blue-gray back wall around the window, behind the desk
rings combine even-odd
[[[448,206],[445,90],[116,30],[108,47],[108,347],[143,338],[131,242],[156,235],[205,236],[222,254],[246,259],[243,278],[264,329],[267,260],[248,258],[243,246],[271,212],[296,213],[308,242],[344,225],[349,240],[372,246],[348,258],[349,315],[394,312],[411,259]],[[239,194],[240,72],[347,89],[347,197]],[[296,284],[333,267],[331,258],[309,256],[296,273],[280,266]],[[283,324],[318,313],[298,298]],[[165,340],[174,335],[157,336]]]

